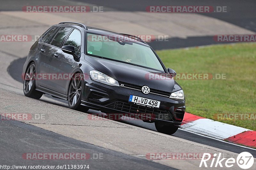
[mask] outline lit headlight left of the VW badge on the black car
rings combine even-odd
[[[112,77],[107,76],[104,73],[101,73],[97,70],[91,70],[90,71],[90,78],[94,81],[106,84],[106,85],[112,85],[112,86],[119,86],[119,83]]]

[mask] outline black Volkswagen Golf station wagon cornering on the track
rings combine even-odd
[[[32,45],[22,75],[25,96],[50,94],[84,112],[140,115],[166,134],[178,130],[185,114],[176,72],[129,34],[61,22]]]

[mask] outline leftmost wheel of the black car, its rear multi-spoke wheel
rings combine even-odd
[[[36,65],[31,63],[25,73],[23,81],[24,95],[33,99],[40,99],[43,95],[42,92],[36,90]]]

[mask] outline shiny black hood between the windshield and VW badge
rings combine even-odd
[[[97,70],[115,78],[119,83],[123,82],[140,86],[147,85],[150,89],[165,92],[180,90],[180,86],[166,73],[161,74],[161,72],[155,70],[92,56],[88,56],[86,60],[96,67]],[[168,75],[169,78],[159,78],[157,76],[158,74]],[[174,86],[176,90],[174,90]]]

